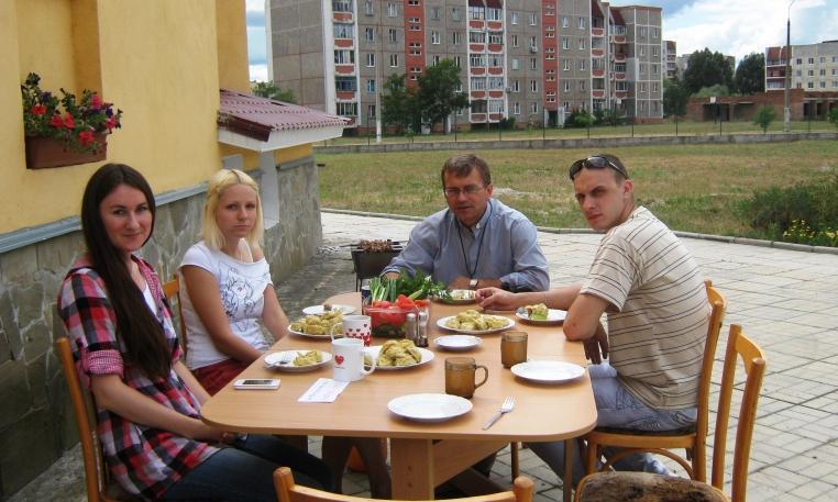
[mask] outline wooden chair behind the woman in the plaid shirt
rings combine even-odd
[[[88,502],[139,501],[122,490],[115,481],[109,479],[108,468],[102,458],[102,449],[96,433],[96,403],[92,395],[79,382],[76,365],[73,360],[69,338],[55,341],[55,348],[67,379],[73,412],[76,415],[78,437],[81,443],[81,457],[85,462],[85,484]]]

